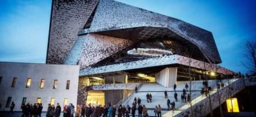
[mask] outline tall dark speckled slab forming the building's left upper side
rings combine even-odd
[[[62,64],[98,0],[53,0],[46,63]]]

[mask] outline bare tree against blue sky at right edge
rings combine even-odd
[[[256,41],[246,41],[244,44],[244,54],[246,61],[242,61],[242,64],[248,70],[249,74],[256,74]]]

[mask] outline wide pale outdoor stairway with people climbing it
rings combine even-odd
[[[255,79],[255,77],[254,77]],[[192,81],[192,107],[194,111],[194,116],[206,116],[210,113],[209,98],[201,95],[201,88],[203,87],[203,81]],[[134,98],[138,97],[142,100],[142,105],[145,105],[148,109],[149,116],[154,116],[154,107],[156,105],[161,105],[163,108],[163,116],[189,116],[190,105],[188,103],[181,102],[181,94],[183,88],[185,88],[185,83],[190,85],[190,81],[178,81],[176,92],[178,94],[178,102],[175,102],[174,111],[167,110],[167,99],[165,99],[164,92],[167,91],[168,98],[172,101],[174,99],[174,89],[173,87],[165,88],[158,83],[144,83],[136,94],[131,94],[127,100],[125,100],[122,105],[130,105],[133,103]],[[237,94],[237,92],[244,89],[246,85],[255,85],[255,80],[251,83],[248,78],[233,78],[229,80],[223,80],[225,87],[219,90],[219,96],[217,93],[217,86],[215,80],[208,81],[212,91],[210,92],[210,98],[212,103],[212,109],[219,106],[219,98],[221,103],[224,103],[227,98]],[[146,95],[147,93],[152,94],[152,103],[147,103]],[[189,92],[186,92],[187,94]],[[138,105],[137,105],[138,106]],[[138,109],[136,109],[136,115],[138,114]]]

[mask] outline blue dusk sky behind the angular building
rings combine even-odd
[[[256,1],[118,0],[212,32],[219,64],[246,72],[243,45],[256,40]],[[0,61],[45,63],[51,0],[6,0],[0,3]]]

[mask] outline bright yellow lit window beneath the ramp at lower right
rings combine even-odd
[[[226,100],[228,112],[239,112],[239,107],[237,103],[237,98],[228,98]]]

